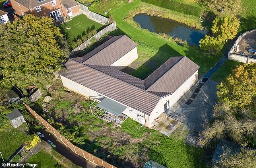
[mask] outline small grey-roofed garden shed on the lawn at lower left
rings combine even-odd
[[[23,115],[21,114],[21,112],[18,110],[18,109],[13,109],[12,110],[12,113],[8,113],[6,114],[7,117],[9,118],[10,120],[10,123],[11,125],[14,127],[14,128],[17,128],[19,127],[22,123],[25,122],[25,119],[23,117]]]

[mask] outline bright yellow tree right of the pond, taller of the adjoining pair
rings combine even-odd
[[[233,39],[237,34],[239,25],[239,18],[236,18],[234,15],[226,15],[222,18],[215,18],[212,31],[214,36],[222,43],[227,39]]]

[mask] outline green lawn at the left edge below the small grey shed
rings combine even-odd
[[[17,129],[14,129],[12,125],[8,125],[8,127],[0,129],[0,152],[2,152],[4,160],[8,159],[13,152],[22,145],[22,143],[28,142],[31,139],[31,136],[25,135],[19,131],[23,125]],[[1,162],[2,159],[0,160],[0,163]]]

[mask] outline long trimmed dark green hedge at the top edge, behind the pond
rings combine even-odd
[[[142,2],[194,16],[199,16],[200,12],[202,12],[201,6],[199,6],[196,2],[193,4],[188,4],[186,3],[186,0],[142,0]]]

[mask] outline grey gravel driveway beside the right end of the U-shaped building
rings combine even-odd
[[[185,124],[189,131],[187,142],[192,145],[196,145],[198,133],[203,130],[202,125],[205,120],[209,121],[212,117],[213,108],[217,103],[217,84],[211,79],[207,82],[198,80],[167,112],[168,115]]]

